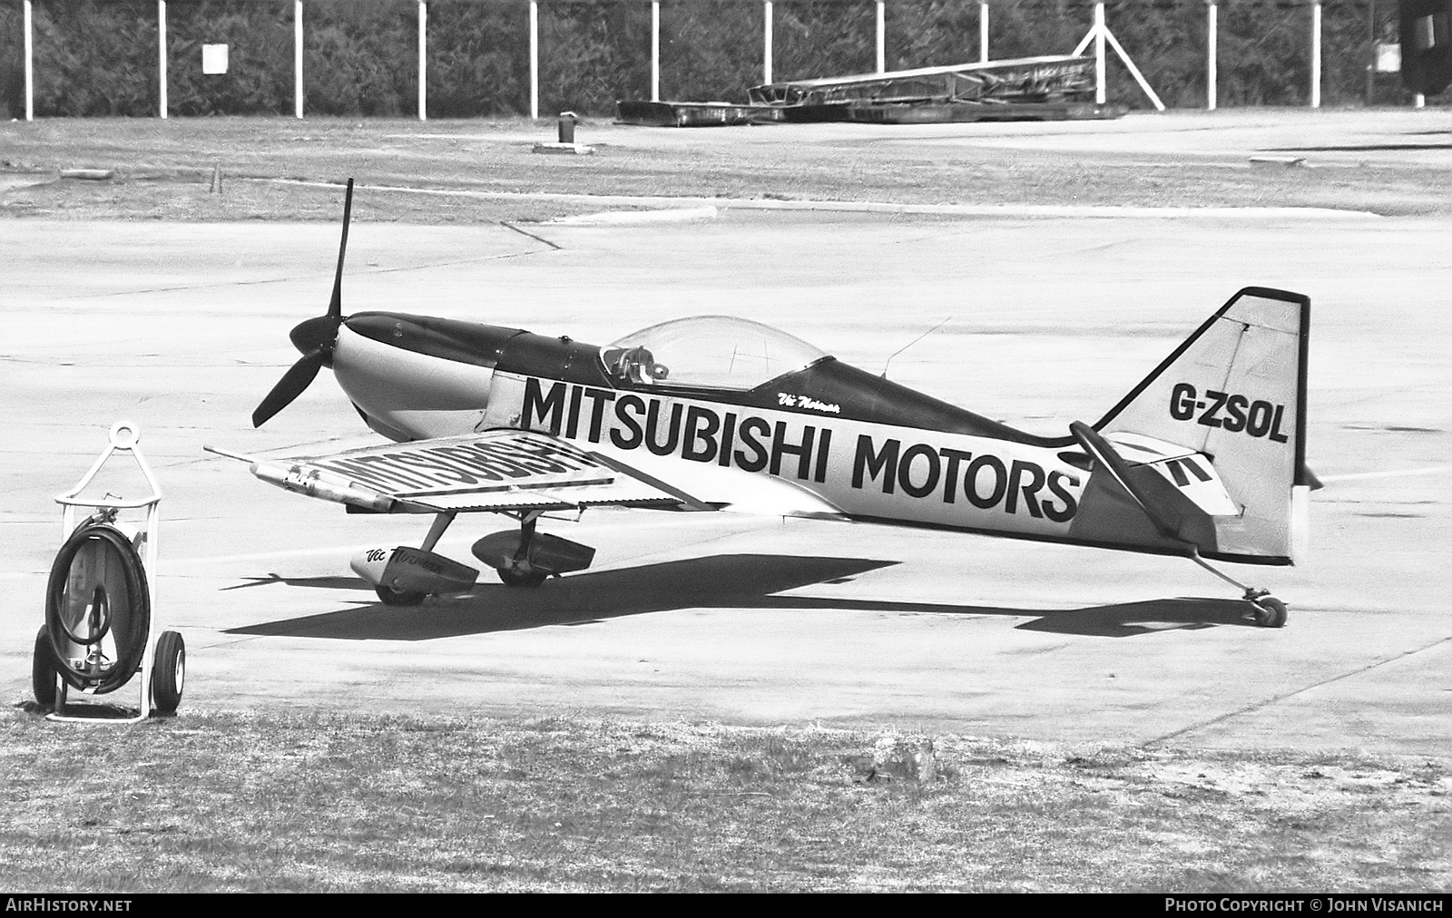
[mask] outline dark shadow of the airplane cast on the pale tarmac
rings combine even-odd
[[[334,638],[344,641],[428,641],[549,625],[592,625],[607,619],[674,612],[680,609],[781,609],[786,612],[845,610],[897,612],[967,616],[1034,616],[1022,630],[1128,638],[1170,629],[1215,625],[1244,625],[1244,604],[1215,598],[1169,598],[1063,612],[860,600],[845,596],[778,596],[816,584],[841,584],[896,561],[862,558],[781,558],[775,555],[717,555],[668,561],[637,568],[574,574],[550,580],[537,590],[502,584],[479,584],[460,597],[430,600],[423,606],[396,607],[370,601],[366,606],[325,612],[280,622],[231,627],[229,635],[290,638]],[[248,578],[292,587],[366,590],[363,581],[346,577]]]

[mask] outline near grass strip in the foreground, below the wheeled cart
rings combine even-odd
[[[0,719],[38,890],[1430,890],[1445,761],[335,713]]]

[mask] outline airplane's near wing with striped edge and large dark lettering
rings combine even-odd
[[[234,458],[250,462],[253,475],[267,484],[367,513],[600,505],[713,510],[627,465],[523,430],[388,443],[324,456]]]

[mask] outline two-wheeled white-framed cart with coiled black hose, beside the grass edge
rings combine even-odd
[[[61,551],[45,588],[45,625],[35,636],[32,687],[51,720],[136,723],[151,712],[170,715],[182,703],[186,645],[182,635],[161,632],[151,643],[157,597],[157,530],[161,488],[141,453],[141,433],[121,421],[110,443],[80,482],[55,498],[61,504]],[[116,453],[131,453],[151,494],[125,500],[109,491],[81,497]],[[80,510],[89,514],[77,523]],[[122,520],[123,511],[145,510],[145,521]],[[134,514],[135,516],[135,514]],[[139,713],[102,716],[113,709],[77,704],[70,694],[106,694],[139,673]],[[89,710],[87,710],[89,709]]]

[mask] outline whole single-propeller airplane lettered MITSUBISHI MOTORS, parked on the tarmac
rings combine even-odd
[[[343,315],[353,183],[328,312],[292,330],[302,357],[254,426],[333,367],[392,443],[253,459],[263,481],[348,511],[433,514],[420,548],[353,569],[389,604],[473,587],[436,553],[459,513],[518,520],[473,555],[510,585],[588,568],[594,549],[536,530],[600,505],[759,511],[1288,565],[1304,537],[1310,299],[1246,288],[1096,424],[1041,437],[727,317],[652,325],[598,347],[399,312]],[[209,447],[211,449],[211,447]]]

